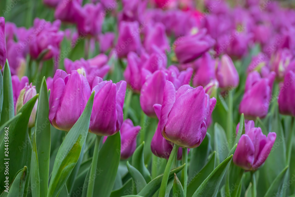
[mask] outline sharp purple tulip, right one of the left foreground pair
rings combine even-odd
[[[99,136],[111,136],[119,131],[123,123],[123,104],[126,82],[113,84],[96,77],[92,84],[95,91],[90,118],[90,131]]]

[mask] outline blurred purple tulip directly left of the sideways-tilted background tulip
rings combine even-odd
[[[156,23],[148,29],[145,37],[144,46],[148,53],[152,51],[151,47],[156,45],[161,51],[170,51],[169,41],[165,32],[165,26],[162,23]]]

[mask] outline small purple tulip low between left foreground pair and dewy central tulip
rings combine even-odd
[[[128,159],[136,149],[136,136],[141,127],[134,126],[130,119],[124,120],[120,129],[121,135],[121,159]],[[106,141],[107,136],[104,137]]]

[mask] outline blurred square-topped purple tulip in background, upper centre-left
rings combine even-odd
[[[118,43],[116,46],[118,57],[125,57],[130,51],[140,54],[141,41],[138,33],[138,22],[125,22],[119,24]]]

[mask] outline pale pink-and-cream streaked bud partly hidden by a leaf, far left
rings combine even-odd
[[[26,83],[24,89],[22,89],[19,93],[19,97],[17,98],[17,102],[15,105],[15,114],[24,106],[26,102],[28,102],[31,98],[37,95],[36,87],[32,85],[32,83]],[[37,106],[38,106],[38,100],[36,101],[34,108],[32,110],[32,113],[30,115],[29,120],[29,128],[35,126],[35,118],[36,118],[36,112],[37,112]]]

